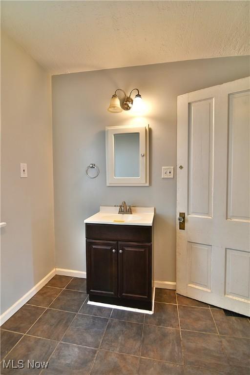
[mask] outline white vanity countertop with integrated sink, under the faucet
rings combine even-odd
[[[84,223],[152,226],[154,207],[132,207],[132,215],[118,213],[119,207],[101,206],[100,211],[88,217]]]

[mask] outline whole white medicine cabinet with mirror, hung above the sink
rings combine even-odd
[[[106,127],[107,186],[148,186],[148,125]]]

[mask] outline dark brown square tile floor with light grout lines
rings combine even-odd
[[[54,276],[1,326],[0,374],[249,375],[250,320],[156,289],[155,313],[87,305],[86,281]],[[3,360],[24,360],[24,369]],[[48,361],[27,369],[27,361]]]

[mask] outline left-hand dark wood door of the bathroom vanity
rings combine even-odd
[[[86,240],[87,292],[118,295],[117,242]]]

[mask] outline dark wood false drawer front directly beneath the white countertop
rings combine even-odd
[[[117,240],[152,242],[152,227],[141,225],[86,224],[86,238],[90,240]]]

